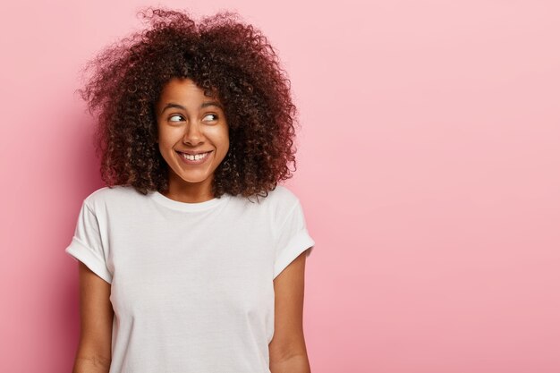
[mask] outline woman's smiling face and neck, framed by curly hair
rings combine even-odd
[[[156,105],[157,142],[169,166],[169,190],[210,193],[229,149],[223,106],[190,79],[165,84]]]

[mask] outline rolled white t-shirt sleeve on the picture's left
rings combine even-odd
[[[96,275],[111,284],[113,276],[106,267],[106,250],[99,232],[98,218],[84,200],[72,242],[65,252],[76,261],[80,260]]]

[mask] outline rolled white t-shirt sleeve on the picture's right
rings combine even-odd
[[[300,201],[297,200],[290,214],[285,218],[284,224],[280,225],[277,232],[276,259],[274,265],[274,277],[278,276],[285,267],[288,267],[293,259],[300,256],[301,252],[307,251],[310,256],[315,242],[305,225],[305,216]]]

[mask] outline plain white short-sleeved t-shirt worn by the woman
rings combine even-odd
[[[65,251],[111,284],[110,373],[270,372],[273,279],[315,242],[286,187],[251,200],[84,199]]]

